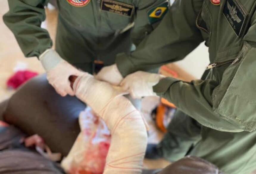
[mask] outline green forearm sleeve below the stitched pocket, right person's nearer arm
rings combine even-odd
[[[174,78],[165,78],[160,80],[153,90],[203,126],[219,131],[243,131],[238,123],[227,121],[213,112],[211,96],[217,85],[216,81],[210,79],[187,83]]]

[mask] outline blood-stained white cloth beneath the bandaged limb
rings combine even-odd
[[[61,166],[69,174],[102,174],[110,147],[110,131],[90,107],[80,112],[79,125],[81,132]]]

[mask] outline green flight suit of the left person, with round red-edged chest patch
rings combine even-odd
[[[150,20],[152,10],[167,7],[166,0],[60,0],[56,51],[69,63],[92,73],[94,61],[115,62],[129,53],[157,26],[166,10]],[[39,57],[52,47],[49,33],[40,27],[48,0],[9,0],[5,24],[14,33],[26,57]],[[154,11],[152,11],[154,12]],[[134,26],[133,26],[134,23]],[[133,27],[132,27],[133,26]]]

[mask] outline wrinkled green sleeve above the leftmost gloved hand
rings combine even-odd
[[[49,33],[41,28],[45,20],[44,6],[48,0],[8,0],[9,12],[3,16],[4,23],[13,32],[26,57],[39,57],[52,47]]]

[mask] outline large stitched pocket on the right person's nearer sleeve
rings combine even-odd
[[[213,109],[245,131],[256,128],[256,48],[244,43],[213,91]]]

